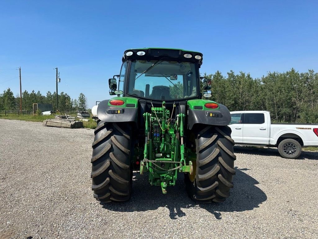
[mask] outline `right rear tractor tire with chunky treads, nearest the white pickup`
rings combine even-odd
[[[235,174],[231,128],[199,125],[194,132],[199,132],[196,169],[194,175],[185,175],[189,197],[198,202],[223,202],[230,196]]]

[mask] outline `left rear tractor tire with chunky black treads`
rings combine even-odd
[[[122,202],[130,198],[131,126],[99,121],[94,131],[92,163],[93,195],[100,202]]]

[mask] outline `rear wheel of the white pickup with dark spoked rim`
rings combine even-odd
[[[278,152],[283,158],[298,158],[301,154],[301,145],[293,139],[286,139],[279,143]]]

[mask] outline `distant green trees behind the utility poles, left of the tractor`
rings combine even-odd
[[[53,110],[56,110],[56,92],[48,91],[46,95],[42,95],[40,91],[34,90],[22,92],[22,109],[32,111],[33,103],[52,104]],[[83,93],[78,98],[72,99],[67,93],[61,92],[58,95],[59,112],[72,112],[75,110],[86,110],[87,98]],[[0,93],[0,110],[20,110],[20,96],[14,96],[13,92],[8,88]]]

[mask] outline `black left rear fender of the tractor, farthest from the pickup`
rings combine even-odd
[[[119,99],[119,98],[118,98]],[[137,100],[137,99],[136,99]],[[135,107],[127,107],[126,100],[123,106],[111,106],[110,100],[103,100],[97,107],[97,117],[105,122],[135,122],[138,120],[138,100]]]

